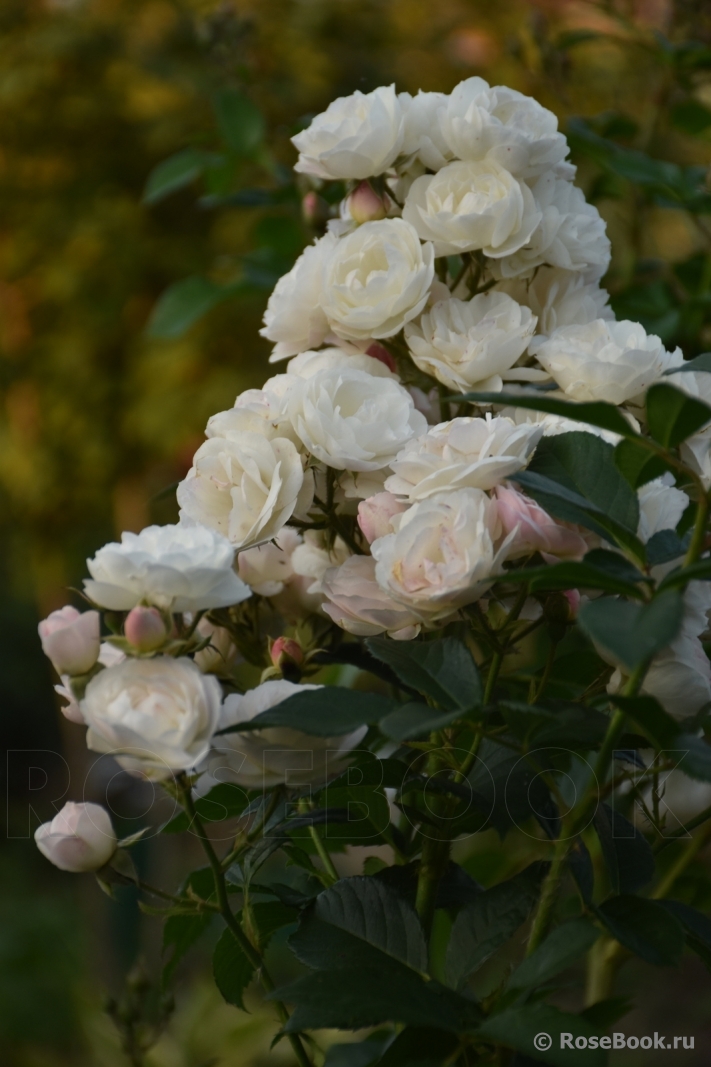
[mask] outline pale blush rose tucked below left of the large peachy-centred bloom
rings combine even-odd
[[[409,641],[420,633],[421,620],[380,588],[372,556],[351,556],[327,571],[323,610],[336,626],[357,637],[389,634],[396,641]]]

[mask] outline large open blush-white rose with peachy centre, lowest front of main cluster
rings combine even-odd
[[[438,493],[395,515],[395,534],[374,541],[376,579],[423,622],[471,604],[501,573],[507,542],[496,551],[496,504],[480,489]]]

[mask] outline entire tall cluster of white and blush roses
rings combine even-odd
[[[295,686],[266,681],[223,701],[210,671],[234,656],[231,637],[188,617],[253,595],[287,623],[318,612],[353,635],[407,640],[479,600],[507,560],[581,558],[591,536],[507,479],[542,435],[600,431],[463,395],[542,383],[635,419],[646,389],[682,363],[638,323],[615,321],[600,287],[604,223],[573,185],[555,115],[534,99],[480,78],[448,96],[357,92],[294,143],[296,170],[315,187],[345,182],[346,195],[270,297],[262,333],[285,370],[209,419],[178,488],[179,526],[124,535],[90,561],[88,596],[128,612],[123,643],[99,644],[96,611],[65,608],[41,627],[67,715],[132,773],[215,774],[220,757],[252,785],[281,746],[312,753],[306,779],[322,775],[314,738],[216,737]],[[669,380],[711,399],[711,377]],[[711,428],[683,447],[711,483]],[[643,540],[688,504],[664,479],[639,498]],[[680,671],[694,703],[711,698],[699,640],[711,603],[695,587],[688,601],[646,683],[677,714]]]

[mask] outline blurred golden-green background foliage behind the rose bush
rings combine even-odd
[[[130,893],[105,907],[91,879],[50,870],[28,840],[67,767],[74,783],[88,767],[59,722],[36,621],[98,545],[175,516],[170,487],[208,415],[266,377],[266,299],[313,236],[289,137],[356,89],[446,92],[474,74],[559,115],[609,223],[617,315],[688,355],[711,348],[708,0],[0,5],[3,1067],[118,1067],[129,1060],[101,989],[124,997],[125,1019],[147,1013],[139,1031],[164,1007],[137,972],[120,992],[139,953],[158,971],[157,924]],[[27,755],[38,749],[63,757]],[[122,795],[120,816],[137,818],[145,798]],[[500,872],[484,837],[471,863],[486,881]],[[172,842],[146,845],[167,883],[185,862]],[[201,958],[148,1063],[288,1062],[281,1045],[269,1051],[259,1010],[220,1002]],[[708,981],[686,969],[645,998],[630,1032],[666,1019],[697,1035],[686,1061],[705,1063]]]

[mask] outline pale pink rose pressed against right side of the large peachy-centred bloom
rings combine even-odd
[[[514,534],[509,544],[509,558],[540,552],[543,558],[563,556],[582,559],[587,544],[580,534],[563,526],[543,511],[535,500],[515,489],[496,485],[499,519],[505,534]]]

